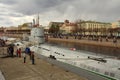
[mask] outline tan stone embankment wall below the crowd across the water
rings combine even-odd
[[[78,40],[78,39],[61,39],[61,38],[48,38],[48,41],[61,41],[61,42],[69,42],[69,43],[77,43],[77,44],[86,44],[92,46],[104,46],[104,47],[113,47],[120,48],[120,41],[117,43],[113,43],[112,41],[93,41],[93,40]]]

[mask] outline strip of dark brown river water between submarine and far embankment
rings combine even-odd
[[[88,52],[93,52],[96,55],[106,55],[120,58],[120,49],[102,46],[92,46],[85,44],[60,42],[60,41],[48,41],[50,44],[59,45],[67,48],[76,48],[76,50],[83,50]]]

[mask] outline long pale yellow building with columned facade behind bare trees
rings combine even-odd
[[[81,21],[78,24],[79,32],[82,35],[108,35],[108,29],[111,28],[111,23],[96,22],[96,21]]]

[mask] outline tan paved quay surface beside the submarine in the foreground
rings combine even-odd
[[[26,63],[23,58],[0,58],[0,70],[6,80],[87,80],[77,74],[68,72],[35,56],[35,65],[29,56]]]

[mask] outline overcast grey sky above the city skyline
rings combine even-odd
[[[39,13],[40,24],[50,21],[120,19],[120,0],[0,0],[0,26],[32,22]]]

